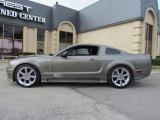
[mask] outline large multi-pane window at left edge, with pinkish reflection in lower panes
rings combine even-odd
[[[0,55],[18,56],[22,52],[22,39],[23,27],[0,24]]]

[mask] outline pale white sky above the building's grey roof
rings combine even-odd
[[[41,4],[45,4],[48,6],[53,6],[56,2],[58,2],[60,5],[75,9],[75,10],[81,10],[88,5],[97,2],[98,0],[30,0],[34,2],[38,2]],[[160,0],[158,0],[158,5],[160,9]]]

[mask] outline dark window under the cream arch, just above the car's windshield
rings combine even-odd
[[[73,44],[73,33],[60,31],[59,50],[69,47]]]

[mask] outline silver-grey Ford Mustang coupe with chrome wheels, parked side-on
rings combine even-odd
[[[78,44],[58,54],[35,55],[9,62],[8,79],[22,87],[41,82],[109,83],[126,88],[151,74],[150,55],[134,55],[104,46]]]

